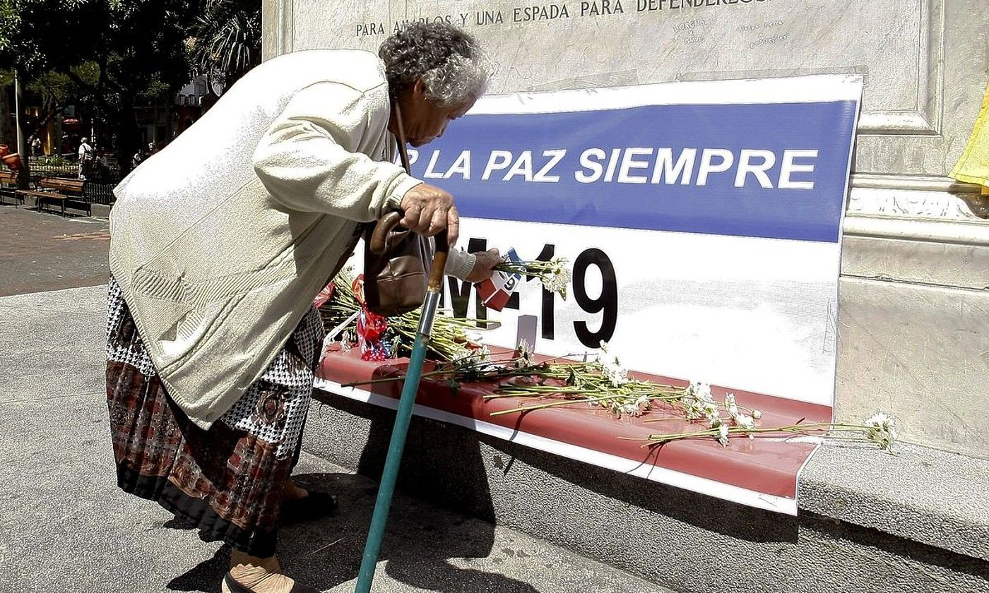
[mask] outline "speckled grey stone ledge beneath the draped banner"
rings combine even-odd
[[[304,447],[380,475],[394,412],[316,397]],[[989,592],[989,463],[900,449],[824,447],[790,517],[413,417],[399,488],[677,591]]]

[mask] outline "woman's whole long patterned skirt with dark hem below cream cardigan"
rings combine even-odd
[[[107,405],[120,487],[197,526],[206,542],[272,555],[322,337],[319,314],[310,309],[264,375],[203,430],[168,396],[111,278]]]

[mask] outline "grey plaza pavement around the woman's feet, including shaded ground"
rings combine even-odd
[[[105,220],[0,208],[0,221],[2,294],[103,285],[107,241],[92,233],[105,231]],[[0,592],[219,591],[228,550],[115,485],[104,295],[95,286],[0,297]],[[309,455],[297,474],[338,492],[342,514],[283,530],[283,564],[323,590],[352,591],[376,484]],[[375,591],[669,593],[402,495],[381,558]]]

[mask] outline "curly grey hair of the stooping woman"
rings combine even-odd
[[[411,23],[378,50],[393,95],[422,79],[426,97],[438,107],[461,107],[484,92],[488,72],[481,46],[448,23]]]

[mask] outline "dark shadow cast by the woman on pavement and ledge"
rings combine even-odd
[[[360,471],[378,476],[384,466],[384,455],[391,437],[391,423],[375,420],[361,457]],[[410,431],[406,451],[419,452],[421,434]],[[465,468],[480,467],[481,453],[477,445],[471,451],[461,451],[459,460]],[[404,494],[415,495],[424,490],[442,488],[433,480],[422,480],[415,470],[414,458],[409,456],[400,473],[398,488]],[[362,475],[350,473],[297,473],[297,483],[303,487],[324,489],[340,499],[340,511],[335,517],[310,523],[281,527],[278,554],[285,573],[298,581],[320,590],[331,589],[357,577],[371,523],[378,483]],[[478,482],[474,482],[478,483]],[[481,483],[486,483],[482,481]],[[467,484],[460,484],[463,488]],[[472,489],[473,484],[471,485]],[[494,516],[490,492],[470,492],[462,500],[472,501],[472,514]],[[479,500],[487,500],[485,509],[476,508]],[[480,511],[480,512],[479,512]],[[191,526],[172,520],[165,527],[190,529]],[[450,593],[497,591],[505,593],[537,593],[532,585],[509,576],[481,569],[460,567],[448,558],[485,558],[494,548],[494,525],[479,519],[441,510],[425,503],[397,495],[389,515],[388,531],[379,560],[386,560],[385,573],[389,579],[409,587]],[[169,584],[176,591],[216,591],[229,562],[229,549],[223,547],[214,557],[201,562]],[[376,589],[386,580],[380,573]],[[348,590],[342,588],[342,590]],[[394,589],[392,589],[394,590]]]

